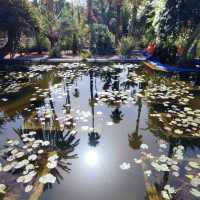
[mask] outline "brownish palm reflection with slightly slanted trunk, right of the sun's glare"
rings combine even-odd
[[[139,135],[139,123],[142,111],[142,99],[140,97],[138,98],[137,104],[138,104],[138,116],[136,121],[136,129],[131,135],[128,136],[129,146],[132,149],[139,149],[140,145],[142,144],[142,135]]]

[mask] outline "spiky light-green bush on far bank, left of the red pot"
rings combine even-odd
[[[135,42],[132,37],[123,37],[119,42],[117,52],[119,55],[130,56],[131,51],[135,48]]]

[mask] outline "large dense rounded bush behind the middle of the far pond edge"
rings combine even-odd
[[[106,55],[114,53],[114,35],[103,24],[93,24],[90,43],[93,54]]]

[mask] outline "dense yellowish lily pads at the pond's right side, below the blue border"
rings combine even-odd
[[[147,101],[160,105],[150,116],[158,118],[169,135],[200,137],[200,109],[192,108],[194,95],[190,90],[184,82],[152,84],[146,90]]]

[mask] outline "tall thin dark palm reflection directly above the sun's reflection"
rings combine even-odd
[[[90,106],[92,111],[92,131],[88,133],[89,136],[89,145],[90,146],[97,146],[99,144],[99,139],[101,136],[98,132],[95,131],[95,119],[94,119],[94,112],[95,112],[95,98],[94,98],[94,72],[90,70]]]

